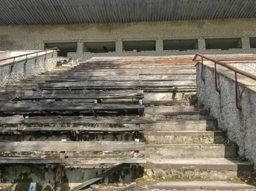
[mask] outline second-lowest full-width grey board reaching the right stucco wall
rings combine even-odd
[[[195,74],[170,74],[170,75],[137,75],[137,76],[54,76],[47,82],[72,82],[72,81],[174,81],[196,80]]]

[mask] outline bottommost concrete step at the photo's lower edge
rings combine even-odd
[[[184,190],[187,189],[200,189],[200,190],[245,190],[253,189],[256,191],[256,187],[253,185],[228,183],[223,181],[188,181],[188,182],[162,182],[154,185],[148,185],[148,189],[159,190]]]

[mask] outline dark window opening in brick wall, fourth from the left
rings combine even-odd
[[[197,39],[175,39],[175,40],[163,40],[163,50],[196,50],[198,49]]]

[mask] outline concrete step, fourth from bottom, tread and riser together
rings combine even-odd
[[[143,132],[148,144],[223,144],[226,133],[222,131]]]

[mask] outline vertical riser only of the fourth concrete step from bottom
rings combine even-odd
[[[145,136],[155,144],[223,144],[225,136]]]

